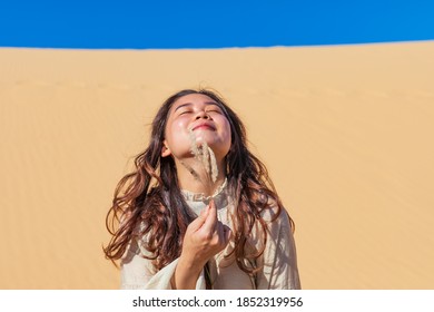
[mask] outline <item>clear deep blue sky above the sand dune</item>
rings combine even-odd
[[[0,47],[179,49],[434,40],[434,0],[0,0]]]

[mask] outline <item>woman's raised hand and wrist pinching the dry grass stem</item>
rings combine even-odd
[[[230,236],[230,228],[218,221],[217,208],[210,202],[187,227],[175,272],[175,287],[195,289],[204,265],[227,246]]]

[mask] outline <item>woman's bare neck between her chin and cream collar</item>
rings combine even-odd
[[[184,160],[175,159],[175,164],[177,167],[178,184],[181,189],[211,196],[225,181],[226,165],[224,160],[217,162],[218,175],[216,182],[213,182],[201,163],[194,158]]]

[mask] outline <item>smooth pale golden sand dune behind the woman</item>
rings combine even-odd
[[[0,289],[118,289],[117,182],[159,105],[217,89],[247,125],[304,289],[434,289],[434,42],[0,49]]]

